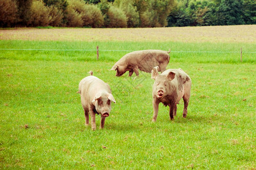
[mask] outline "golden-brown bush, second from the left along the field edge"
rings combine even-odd
[[[31,16],[28,25],[32,27],[48,26],[50,22],[48,7],[44,6],[44,2],[35,0],[31,5]]]

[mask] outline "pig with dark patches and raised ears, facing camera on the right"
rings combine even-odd
[[[184,101],[183,117],[187,117],[187,108],[191,91],[191,78],[182,69],[168,69],[162,74],[158,74],[158,67],[151,71],[151,78],[155,79],[152,97],[153,97],[153,119],[155,122],[158,117],[159,103],[165,107],[170,107],[170,119],[174,120],[176,116],[177,104],[181,97]]]

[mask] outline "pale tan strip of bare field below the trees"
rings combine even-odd
[[[166,28],[1,29],[0,40],[256,42],[256,25]]]

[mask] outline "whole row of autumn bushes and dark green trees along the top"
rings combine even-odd
[[[255,12],[255,0],[0,0],[0,27],[255,24]]]

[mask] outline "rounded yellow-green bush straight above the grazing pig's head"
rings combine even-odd
[[[105,25],[109,28],[126,28],[127,27],[127,18],[124,12],[114,6],[110,6],[108,10],[108,18],[109,23],[108,25]]]

